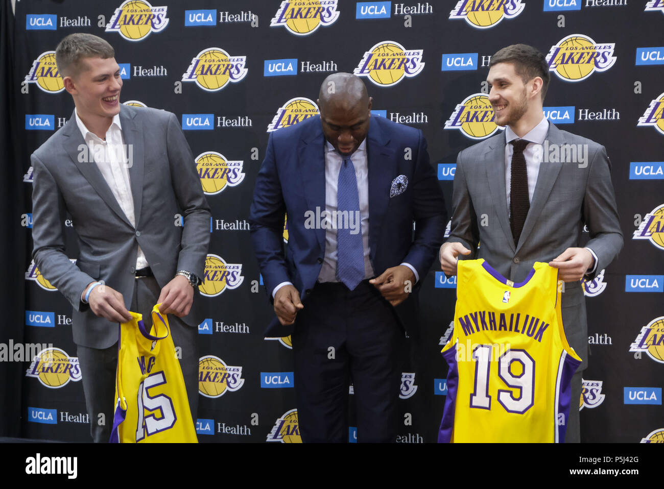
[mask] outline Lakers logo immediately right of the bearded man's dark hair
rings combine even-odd
[[[560,80],[580,82],[594,72],[603,72],[614,66],[616,44],[598,44],[588,36],[572,34],[551,46],[546,55],[548,69]]]

